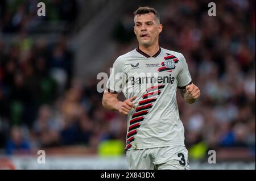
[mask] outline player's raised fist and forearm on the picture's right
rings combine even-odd
[[[195,103],[201,94],[199,88],[193,83],[186,86],[185,89],[180,89],[180,93],[189,104]]]

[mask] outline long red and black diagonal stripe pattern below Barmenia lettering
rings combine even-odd
[[[144,116],[147,115],[148,111],[152,108],[153,103],[156,101],[157,96],[161,94],[163,88],[164,85],[152,86],[142,95],[142,100],[139,101],[138,107],[135,109],[129,121],[125,150],[131,148],[131,142],[134,141],[134,135],[137,134],[137,129],[141,126]]]

